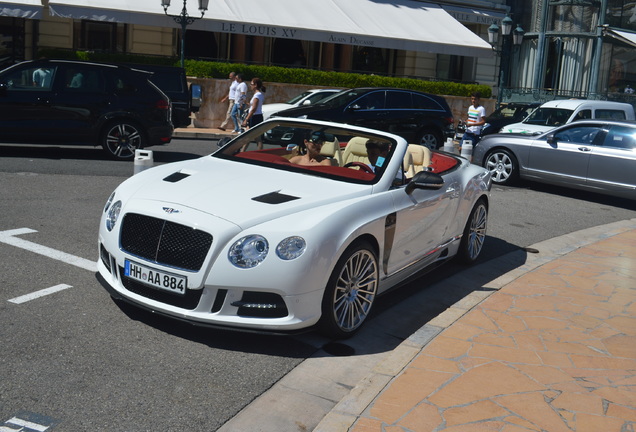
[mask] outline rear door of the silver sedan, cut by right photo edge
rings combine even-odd
[[[587,183],[636,198],[636,128],[613,125],[602,143],[592,146]]]

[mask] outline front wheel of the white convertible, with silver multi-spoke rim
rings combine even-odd
[[[350,246],[340,257],[322,299],[320,332],[334,339],[353,336],[371,312],[378,290],[378,258],[367,242]]]

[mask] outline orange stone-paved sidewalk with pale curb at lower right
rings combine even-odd
[[[390,352],[307,359],[220,431],[634,431],[636,219],[530,249],[440,282],[468,294]]]

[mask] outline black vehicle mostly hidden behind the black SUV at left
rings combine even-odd
[[[172,124],[175,128],[190,126],[190,115],[199,111],[195,95],[200,97],[197,84],[188,86],[185,69],[176,66],[129,64],[128,66],[151,72],[150,81],[161,89],[172,103]],[[194,94],[193,94],[194,93]],[[193,100],[194,99],[194,100]]]

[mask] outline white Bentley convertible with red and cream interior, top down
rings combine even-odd
[[[304,138],[263,142],[276,128]],[[490,188],[488,170],[396,135],[268,120],[124,181],[101,217],[98,279],[193,324],[346,338],[381,293],[452,257],[477,260]]]

